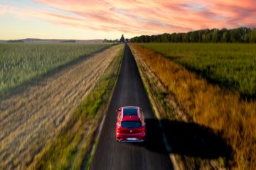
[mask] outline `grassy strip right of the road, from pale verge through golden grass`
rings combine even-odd
[[[142,65],[139,69],[144,72],[144,83],[149,84],[147,90],[151,91],[156,108],[159,108],[160,120],[171,121],[170,127],[176,130],[169,133],[176,135],[176,140],[185,148],[176,149],[175,152],[185,168],[253,169],[256,158],[255,102],[241,101],[238,93],[223,91],[218,86],[208,84],[206,80],[155,52],[136,45],[131,47],[133,53],[137,52],[134,54],[139,56],[137,59],[141,59],[137,60]],[[212,136],[203,138],[205,142],[202,145],[191,145],[191,142],[201,142],[193,138],[193,133],[202,139],[209,132]],[[186,135],[191,135],[191,138],[186,138]],[[190,141],[184,142],[183,139]],[[206,150],[214,148],[218,146],[215,142],[219,139],[232,148],[231,159],[225,146],[211,150],[214,157],[203,150],[190,150],[193,147]],[[190,146],[186,147],[186,144]]]

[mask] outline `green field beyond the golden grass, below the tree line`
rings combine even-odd
[[[256,97],[256,44],[139,44],[198,72],[211,82]]]

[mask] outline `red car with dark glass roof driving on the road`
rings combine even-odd
[[[117,142],[144,142],[146,123],[142,108],[125,106],[117,110]]]

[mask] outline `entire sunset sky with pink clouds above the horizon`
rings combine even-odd
[[[0,0],[0,39],[117,39],[256,28],[256,0]]]

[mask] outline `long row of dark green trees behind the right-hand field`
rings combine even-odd
[[[141,35],[130,42],[256,42],[256,28],[195,30],[188,33]]]

